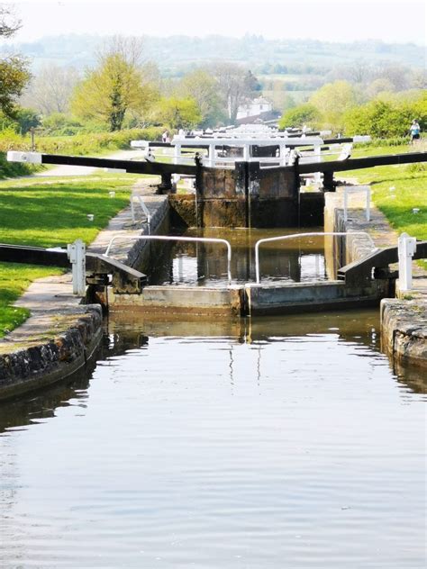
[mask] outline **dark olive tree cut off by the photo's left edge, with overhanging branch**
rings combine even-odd
[[[11,37],[20,26],[12,9],[0,5],[0,38]],[[0,111],[6,117],[14,117],[16,99],[22,95],[30,77],[27,59],[19,55],[0,59]]]

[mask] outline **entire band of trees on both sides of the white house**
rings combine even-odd
[[[11,8],[0,5],[0,38],[10,38],[19,27]],[[342,68],[341,76],[330,77],[332,82],[313,91],[304,104],[286,95],[283,127],[306,124],[387,138],[404,136],[413,118],[422,129],[427,126],[422,72],[399,72],[395,66],[376,75],[372,66],[359,61]],[[24,133],[42,127],[64,135],[150,125],[177,130],[232,124],[240,105],[263,87],[249,69],[227,62],[165,79],[145,58],[144,41],[129,37],[107,41],[97,51],[95,65],[83,74],[50,66],[32,76],[30,61],[14,55],[0,59],[0,79],[0,130]]]

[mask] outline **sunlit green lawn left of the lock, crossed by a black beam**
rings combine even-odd
[[[49,181],[28,178],[0,183],[0,242],[64,247],[75,239],[89,244],[129,203],[130,188],[141,176],[87,176]],[[111,198],[109,192],[114,191]],[[87,220],[87,213],[95,215]],[[28,317],[14,301],[36,278],[60,274],[55,267],[0,263],[0,338]]]

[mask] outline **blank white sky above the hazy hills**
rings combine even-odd
[[[5,4],[2,1],[2,4]],[[6,2],[7,3],[7,2]],[[38,0],[9,2],[23,22],[14,41],[46,35],[191,35],[426,45],[421,0]]]

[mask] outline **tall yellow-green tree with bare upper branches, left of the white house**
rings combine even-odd
[[[126,113],[146,113],[158,92],[145,79],[141,42],[114,38],[98,61],[98,68],[88,71],[77,86],[71,110],[82,119],[97,119],[106,122],[110,131],[120,131]]]

